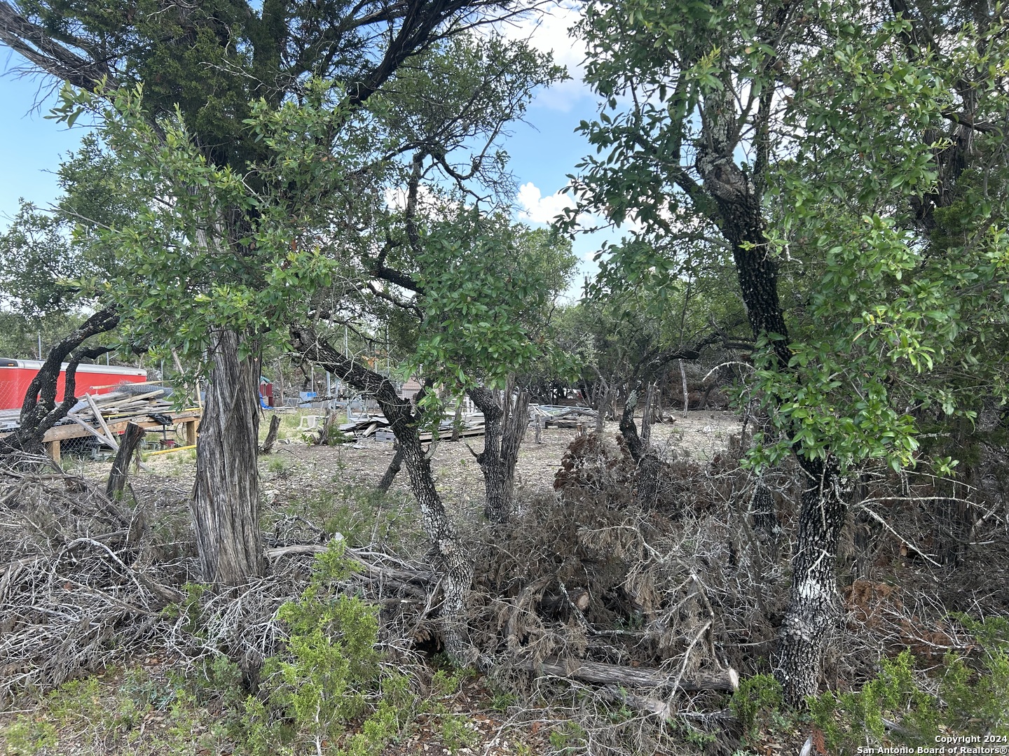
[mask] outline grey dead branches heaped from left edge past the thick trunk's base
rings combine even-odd
[[[308,585],[312,559],[333,533],[284,517],[265,538],[266,575],[213,592],[196,582],[184,501],[162,506],[145,489],[139,505],[112,501],[46,458],[7,462],[0,465],[0,711],[151,652],[193,669],[227,656],[254,688],[263,659],[286,637],[279,607]],[[359,572],[334,590],[382,607],[380,642],[410,663],[409,639],[430,632],[430,571],[367,548],[347,554]]]

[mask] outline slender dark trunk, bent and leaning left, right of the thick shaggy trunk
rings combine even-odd
[[[463,549],[455,525],[435,488],[431,464],[421,445],[420,413],[414,412],[409,400],[397,395],[396,387],[387,378],[344,357],[311,331],[293,328],[291,341],[295,350],[305,359],[318,363],[339,376],[340,380],[374,397],[382,414],[389,421],[389,427],[403,452],[411,490],[421,508],[424,530],[431,540],[432,560],[441,576],[444,594],[441,619],[445,651],[456,664],[472,662],[465,609],[466,597],[473,580],[473,564]]]

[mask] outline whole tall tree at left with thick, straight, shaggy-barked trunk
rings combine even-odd
[[[36,69],[97,91],[113,106],[104,114],[110,144],[129,163],[124,175],[135,181],[131,188],[150,203],[132,229],[113,235],[136,263],[130,272],[149,282],[143,292],[128,292],[139,296],[116,292],[120,302],[132,303],[142,327],[156,322],[164,311],[160,304],[185,292],[185,317],[176,320],[172,336],[183,350],[206,350],[214,387],[197,454],[198,479],[206,484],[195,489],[194,522],[202,546],[234,541],[225,550],[244,554],[222,561],[224,551],[205,551],[208,582],[237,585],[261,570],[255,457],[248,453],[254,444],[245,437],[256,430],[251,387],[257,350],[291,314],[295,292],[304,304],[306,293],[331,282],[315,234],[353,235],[361,221],[373,228],[368,209],[375,207],[375,193],[364,190],[381,182],[370,184],[367,161],[355,159],[361,147],[374,148],[374,166],[388,170],[397,155],[421,146],[372,141],[369,119],[391,113],[382,104],[387,108],[386,98],[395,99],[389,85],[396,75],[404,73],[401,82],[410,77],[408,61],[439,40],[512,12],[483,0],[322,7],[267,2],[259,10],[242,2],[185,8],[154,2],[122,13],[87,3],[0,3],[0,39]],[[540,74],[556,76],[551,69]],[[142,104],[140,81],[146,83]],[[509,81],[498,67],[492,84],[507,88]],[[364,106],[379,92],[368,112]],[[421,93],[413,96],[416,105]],[[303,98],[305,109],[298,104]],[[64,116],[72,123],[89,102],[69,95]],[[465,106],[489,113],[487,98]],[[439,120],[445,109],[407,113],[420,117],[403,119],[391,130],[396,136],[432,121],[445,125]],[[456,140],[467,136],[450,132]],[[134,144],[130,134],[142,138]],[[299,185],[310,178],[329,180],[309,181],[318,193],[311,195]],[[323,209],[340,202],[346,207],[338,218],[322,217]],[[309,217],[317,208],[319,214]],[[160,254],[146,255],[142,243],[155,239],[164,243],[154,248]],[[341,245],[327,241],[338,258]],[[251,419],[234,425],[228,417]],[[214,480],[225,464],[230,483]],[[253,540],[237,542],[246,538]]]

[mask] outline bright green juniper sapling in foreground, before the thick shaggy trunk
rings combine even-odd
[[[377,754],[403,726],[407,682],[381,665],[375,608],[332,593],[332,584],[354,570],[343,541],[334,541],[316,558],[301,598],[281,607],[289,628],[285,652],[265,661],[259,697],[245,705],[250,753],[274,753],[278,744],[302,752],[326,742],[333,753]],[[345,737],[357,722],[360,732]]]

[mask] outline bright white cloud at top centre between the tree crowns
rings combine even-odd
[[[501,25],[499,31],[509,39],[528,41],[541,52],[550,52],[554,62],[567,67],[571,77],[540,92],[538,105],[567,112],[583,97],[592,97],[591,90],[582,82],[585,43],[570,29],[581,18],[578,3],[561,0],[544,6],[546,10],[535,16]]]

